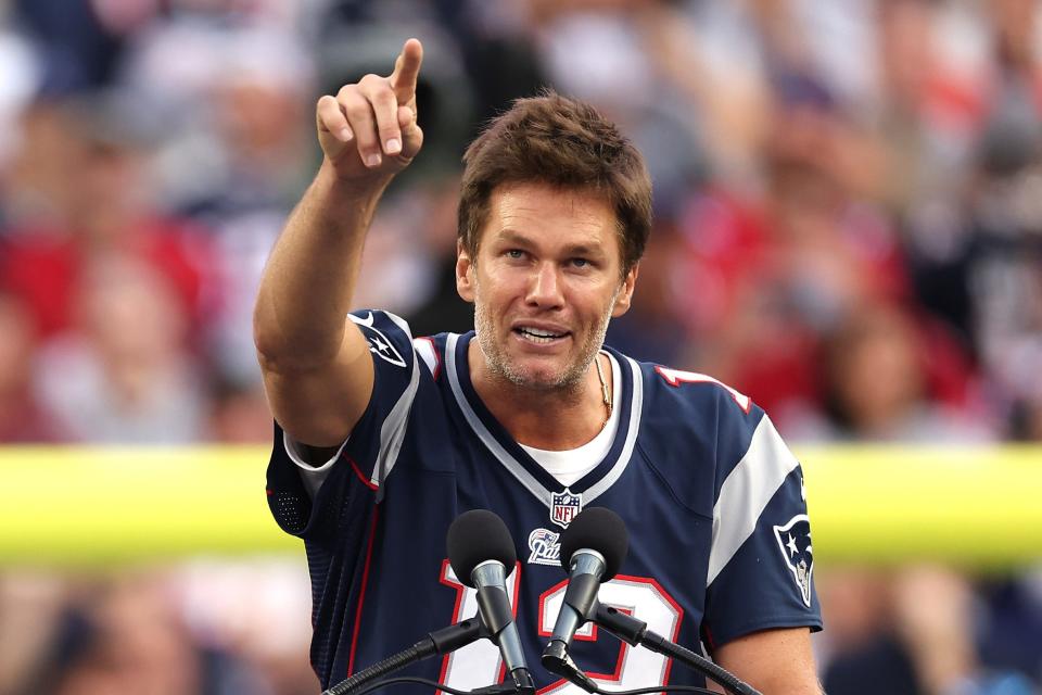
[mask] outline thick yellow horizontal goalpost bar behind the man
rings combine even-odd
[[[1042,559],[1042,447],[804,446],[815,563]],[[0,566],[301,552],[271,520],[264,446],[0,447]]]

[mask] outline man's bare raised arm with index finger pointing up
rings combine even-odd
[[[390,76],[366,75],[318,100],[325,159],[260,280],[253,329],[265,390],[276,420],[304,444],[342,442],[372,393],[369,346],[346,315],[377,203],[423,142],[422,56],[409,39]]]

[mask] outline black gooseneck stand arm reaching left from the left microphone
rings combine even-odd
[[[347,695],[348,693],[360,690],[364,685],[374,681],[381,675],[386,675],[387,673],[397,671],[398,669],[405,668],[409,664],[421,661],[428,657],[434,656],[435,654],[448,654],[450,652],[455,652],[456,649],[460,649],[468,644],[476,642],[478,640],[491,637],[492,633],[475,616],[469,620],[463,620],[454,626],[448,626],[447,628],[442,628],[441,630],[435,630],[434,632],[428,633],[424,639],[420,640],[411,647],[403,649],[397,654],[391,655],[387,658],[377,661],[372,666],[358,671],[351,678],[341,681],[329,690],[322,691],[322,695]],[[511,675],[513,678],[513,683],[509,685],[492,685],[473,692],[479,695],[508,695],[514,693],[532,695],[535,692],[531,680],[528,682],[519,680],[517,671],[512,672]]]

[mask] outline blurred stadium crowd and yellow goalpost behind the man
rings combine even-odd
[[[409,36],[359,306],[468,328],[465,143],[593,101],[656,184],[609,341],[804,462],[829,694],[1042,692],[1035,0],[0,0],[0,693],[317,692],[251,309],[314,101]]]

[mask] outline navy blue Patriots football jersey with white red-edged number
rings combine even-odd
[[[606,348],[621,372],[618,432],[600,464],[564,488],[476,395],[467,364],[473,333],[414,340],[391,314],[352,319],[376,365],[368,408],[315,471],[292,460],[276,426],[268,467],[271,511],[307,552],[312,662],[323,687],[475,615],[474,592],[445,555],[449,525],[474,508],[498,514],[513,535],[519,561],[508,590],[544,693],[577,692],[543,670],[539,655],[566,587],[558,540],[585,506],[613,509],[631,534],[601,602],[659,634],[712,652],[755,630],[821,628],[802,472],[745,395]],[[592,626],[572,656],[609,687],[702,682]],[[410,672],[469,690],[497,682],[503,666],[482,641]]]

